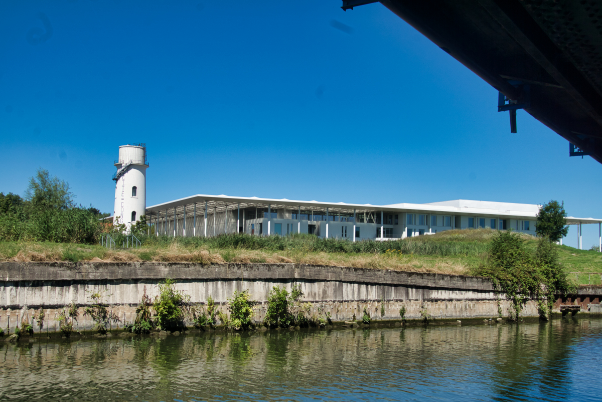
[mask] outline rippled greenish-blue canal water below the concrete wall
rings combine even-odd
[[[0,400],[602,397],[602,320],[1,345]]]

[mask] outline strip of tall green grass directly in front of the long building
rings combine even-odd
[[[340,238],[319,238],[308,234],[288,236],[254,236],[246,233],[228,233],[217,237],[144,237],[146,247],[169,247],[173,243],[190,248],[235,249],[235,250],[290,250],[324,253],[374,253],[394,252],[400,254],[429,256],[479,257],[488,250],[488,244],[480,241],[441,241],[416,238],[390,241],[356,241]]]

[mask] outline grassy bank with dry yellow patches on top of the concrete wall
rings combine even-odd
[[[215,238],[147,237],[140,249],[111,250],[98,245],[1,242],[0,261],[164,261],[164,262],[295,262],[426,273],[468,274],[486,258],[495,230],[448,230],[406,240],[321,239],[312,235],[255,237],[244,234]],[[536,238],[523,235],[527,248]],[[597,252],[557,246],[567,272],[602,272]],[[585,282],[583,282],[585,280]],[[579,277],[587,283],[587,276]],[[600,276],[597,282],[600,283]]]

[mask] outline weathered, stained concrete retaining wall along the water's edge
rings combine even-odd
[[[46,312],[45,330],[58,328],[54,318],[72,301],[79,306],[77,330],[92,329],[83,311],[90,304],[90,292],[107,294],[105,301],[120,318],[120,327],[135,318],[135,307],[146,287],[158,294],[157,283],[166,277],[178,280],[177,288],[190,295],[193,303],[205,303],[211,296],[225,305],[235,290],[249,290],[256,306],[255,320],[262,320],[273,286],[290,289],[299,285],[303,300],[311,302],[313,314],[330,312],[333,321],[361,318],[364,308],[376,320],[420,318],[426,311],[433,318],[497,317],[497,302],[491,282],[480,277],[408,273],[362,268],[323,267],[303,264],[219,264],[202,267],[191,263],[83,262],[83,263],[0,263],[0,327],[11,330],[21,321],[33,321],[40,307]],[[381,317],[381,308],[384,315]],[[507,315],[509,303],[501,301]],[[223,310],[226,311],[225,306]],[[527,303],[526,317],[536,317],[537,306]],[[34,330],[39,328],[34,322]],[[117,324],[116,324],[117,325]]]

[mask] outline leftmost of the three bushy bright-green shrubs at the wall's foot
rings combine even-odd
[[[174,280],[159,282],[159,295],[153,303],[157,325],[162,330],[183,329],[184,318],[190,311],[190,295],[176,289]]]

